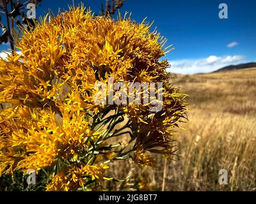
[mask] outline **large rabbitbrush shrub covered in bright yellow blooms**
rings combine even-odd
[[[0,60],[0,103],[11,104],[0,112],[2,177],[35,170],[36,189],[100,190],[104,180],[118,179],[111,177],[113,161],[143,167],[157,164],[154,154],[172,159],[186,95],[168,84],[168,62],[159,60],[166,40],[149,28],[94,17],[81,6],[45,17],[16,39],[20,52]],[[152,112],[151,102],[95,103],[95,84],[109,77],[163,82],[161,110]]]

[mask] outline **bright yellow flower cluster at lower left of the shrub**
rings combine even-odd
[[[3,110],[0,113],[0,173],[37,171],[54,164],[56,157],[72,159],[77,151],[88,148],[88,138],[97,138],[84,113],[68,110],[60,113],[62,119],[57,120],[58,116],[49,108],[17,106]]]

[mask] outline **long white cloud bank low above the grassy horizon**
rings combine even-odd
[[[170,61],[172,67],[167,71],[181,74],[209,73],[230,64],[240,64],[244,59],[243,55],[211,55],[203,59],[182,59]]]

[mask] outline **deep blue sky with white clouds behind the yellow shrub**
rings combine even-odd
[[[65,2],[65,3],[64,3]],[[75,4],[81,1],[75,0]],[[104,0],[83,3],[100,14]],[[220,19],[220,3],[228,6],[228,18]],[[43,0],[37,17],[51,8],[67,9],[72,0]],[[255,0],[126,0],[120,10],[132,12],[132,19],[141,22],[147,17],[157,31],[173,44],[175,50],[166,55],[175,73],[210,72],[229,64],[256,61]],[[1,45],[0,50],[8,48]]]

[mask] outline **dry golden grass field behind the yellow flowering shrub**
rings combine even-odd
[[[200,75],[171,75],[189,94],[189,123],[176,136],[178,161],[140,170],[113,166],[117,190],[256,191],[256,68]],[[228,171],[220,185],[219,170]],[[129,170],[129,171],[128,171]]]

